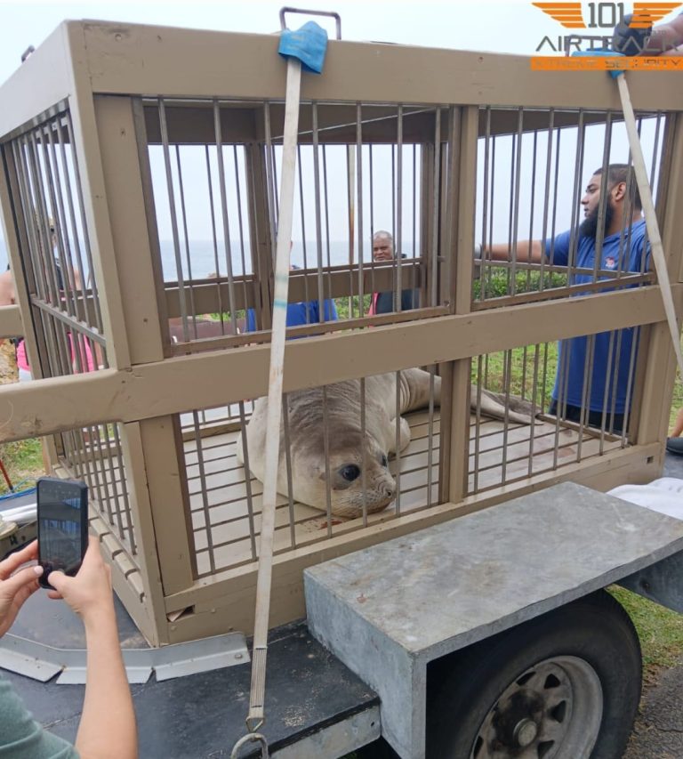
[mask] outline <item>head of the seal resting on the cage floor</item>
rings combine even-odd
[[[339,434],[342,432],[342,434]],[[325,465],[325,447],[329,463]],[[396,481],[389,471],[387,451],[366,432],[342,430],[314,434],[292,451],[293,490],[301,502],[325,509],[329,489],[332,513],[348,519],[380,512],[396,497]],[[327,477],[329,475],[329,485]]]

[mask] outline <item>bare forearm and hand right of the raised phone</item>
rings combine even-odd
[[[83,714],[76,735],[82,759],[134,759],[137,729],[131,690],[118,642],[111,572],[96,537],[90,537],[76,577],[52,572],[51,598],[63,598],[84,622],[87,674]]]

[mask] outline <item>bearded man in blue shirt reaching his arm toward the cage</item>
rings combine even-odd
[[[546,240],[522,240],[515,251],[507,244],[484,251],[478,246],[475,257],[567,266],[570,285],[647,271],[650,251],[633,169],[610,164],[606,174],[604,190],[602,169],[591,176],[581,199],[583,222],[578,228]],[[622,433],[631,407],[629,378],[638,347],[633,333],[628,328],[560,341],[550,414],[593,427],[604,424],[607,432]]]

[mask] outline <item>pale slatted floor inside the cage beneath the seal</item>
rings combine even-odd
[[[390,472],[398,478],[400,496],[380,513],[369,514],[367,523],[385,521],[438,503],[438,410],[432,418],[431,467],[429,463],[430,418],[427,411],[406,415],[411,442]],[[476,494],[515,480],[581,461],[622,447],[622,440],[600,440],[594,432],[537,420],[528,425],[509,425],[475,416],[470,419],[470,465],[468,492]],[[253,561],[261,530],[262,486],[250,478],[251,513],[245,470],[237,464],[237,432],[225,432],[184,443],[191,524],[194,533],[197,573],[200,577]],[[476,469],[476,472],[475,472]],[[503,480],[504,474],[504,480]],[[429,493],[431,491],[431,495]],[[430,497],[429,497],[430,495]],[[348,520],[300,503],[289,504],[277,495],[275,549],[282,553],[364,526],[361,518]],[[207,529],[208,521],[208,529]]]

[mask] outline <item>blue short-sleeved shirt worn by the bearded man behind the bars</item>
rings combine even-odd
[[[647,271],[650,250],[647,246],[644,253],[644,238],[644,221],[635,222],[631,225],[630,239],[628,238],[628,230],[624,232],[623,238],[621,232],[605,238],[602,245],[602,261],[598,268],[615,271]],[[569,262],[570,239],[570,231],[558,235],[554,241],[547,239],[545,241],[545,254],[548,260],[550,261],[550,249],[552,248],[552,262],[566,266]],[[570,284],[580,285],[593,281],[591,270],[595,267],[594,238],[579,238],[574,265],[590,271],[585,274],[573,274]],[[628,327],[620,329],[614,335],[610,335],[609,332],[601,332],[594,336],[592,371],[586,377],[586,382],[590,384],[589,408],[591,411],[602,411],[603,408],[606,408],[607,413],[609,413],[613,408],[614,400],[615,413],[625,413],[631,401],[630,398],[627,399],[626,394],[631,367],[631,351],[633,350],[633,333],[633,327]],[[636,349],[637,347],[636,345]],[[558,371],[555,375],[555,387],[552,391],[554,400],[559,400],[561,378],[566,376],[566,392],[562,393],[563,397],[566,397],[566,402],[571,406],[583,406],[583,375],[585,373],[586,354],[590,349],[591,343],[588,337],[573,337],[570,340],[560,341]],[[568,372],[566,362],[568,362]],[[606,388],[608,389],[607,406],[605,405]]]

